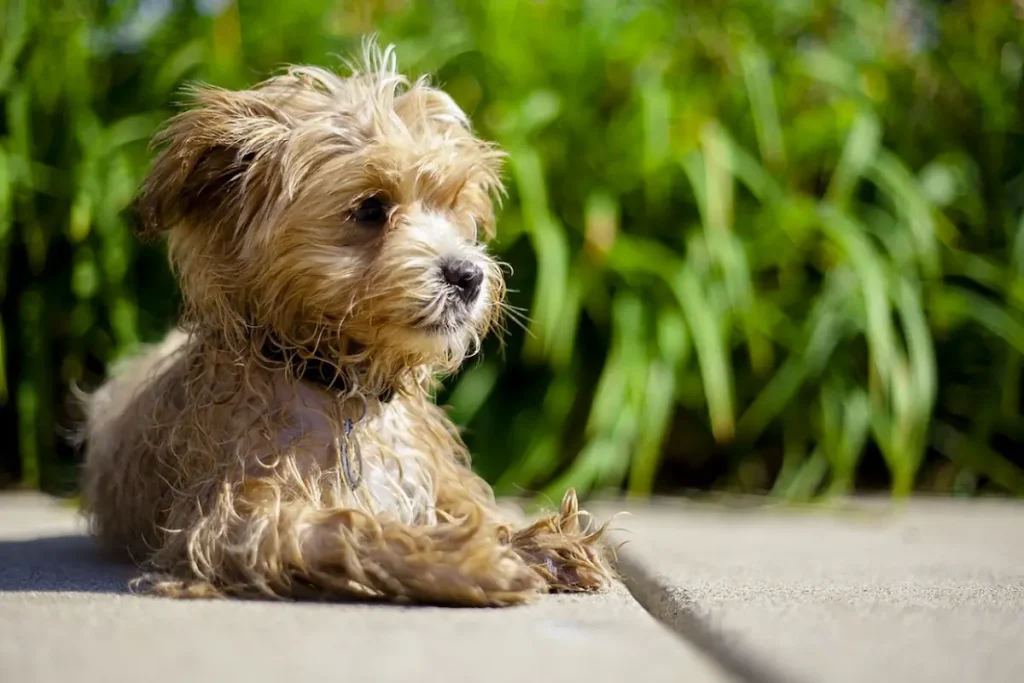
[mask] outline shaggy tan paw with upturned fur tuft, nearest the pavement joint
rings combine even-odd
[[[558,514],[543,517],[512,535],[516,553],[556,592],[595,592],[609,588],[615,573],[608,561],[604,527],[580,510],[575,492],[562,499]]]

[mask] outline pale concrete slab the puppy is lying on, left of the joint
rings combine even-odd
[[[727,680],[625,591],[508,609],[128,595],[69,508],[0,496],[0,681]]]

